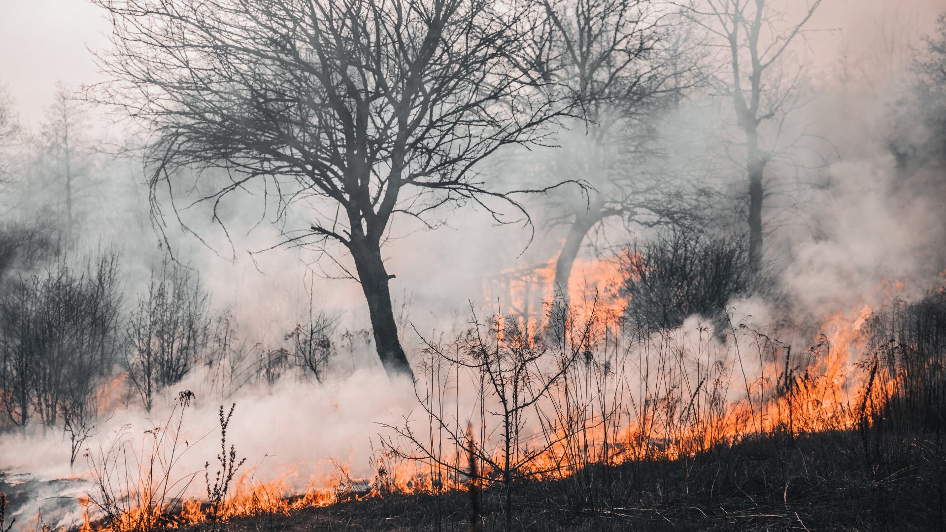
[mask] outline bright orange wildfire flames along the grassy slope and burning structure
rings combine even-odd
[[[586,301],[589,287],[597,293],[595,310],[590,310],[592,306],[575,305],[578,312],[622,315],[629,300],[618,291],[622,270],[617,261],[579,260],[574,271],[577,278],[583,279],[584,286],[575,283],[569,287],[571,301]],[[534,331],[542,326],[539,310],[541,302],[552,294],[553,278],[554,262],[550,260],[494,277],[487,283],[485,292],[487,298],[499,299],[500,306],[507,315],[518,320],[519,327]],[[898,286],[885,283],[884,290],[897,290]],[[866,369],[860,364],[865,355],[861,329],[872,311],[870,306],[862,304],[828,315],[820,324],[821,332],[813,339],[813,346],[805,350],[793,351],[790,346],[747,331],[742,345],[735,342],[727,345],[726,350],[738,353],[741,348],[753,347],[761,353],[751,371],[745,369],[744,358],[724,363],[708,356],[698,362],[713,369],[708,369],[698,381],[681,379],[689,388],[642,389],[639,416],[626,417],[621,424],[608,421],[604,407],[597,413],[594,409],[590,413],[576,413],[583,416],[580,428],[550,425],[551,431],[544,436],[549,444],[529,462],[527,473],[531,471],[541,479],[568,477],[578,470],[583,453],[586,463],[591,456],[592,460],[612,465],[643,459],[675,460],[714,445],[737,442],[752,434],[797,435],[857,429],[869,422],[896,383],[894,377],[878,379],[876,366]],[[733,326],[734,337],[738,336],[736,332]],[[699,334],[700,345],[710,342],[713,335],[709,328],[700,329]],[[686,361],[680,361],[681,367],[683,362]],[[589,371],[587,367],[585,371]],[[616,370],[605,367],[602,375],[613,378]],[[734,382],[742,379],[743,388],[736,393],[721,385],[719,380],[725,376]],[[717,381],[711,381],[713,377]],[[739,397],[733,399],[734,395]],[[697,411],[699,415],[694,414]],[[465,451],[458,446],[451,459],[460,464]],[[81,529],[126,532],[134,528],[132,523],[142,521],[177,527],[260,514],[288,514],[300,508],[386,496],[392,492],[465,489],[468,484],[457,470],[447,472],[431,463],[393,463],[378,458],[374,477],[359,480],[350,478],[350,468],[336,466],[335,475],[311,476],[307,488],[301,491],[294,488],[298,483],[289,481],[298,477],[295,470],[269,481],[256,479],[255,471],[249,470],[236,480],[232,493],[218,507],[197,498],[184,501],[178,508],[143,506],[122,519],[97,527],[85,511]],[[499,481],[498,471],[484,464],[479,480],[482,488],[489,488]],[[82,504],[88,509],[87,501]]]

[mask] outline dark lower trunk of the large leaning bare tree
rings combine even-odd
[[[384,268],[380,245],[372,241],[353,241],[352,257],[358,271],[361,290],[368,302],[371,328],[375,334],[377,356],[389,377],[407,376],[413,380],[411,364],[397,337],[397,323],[388,287],[390,276]]]

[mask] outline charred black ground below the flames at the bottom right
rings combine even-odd
[[[567,481],[515,494],[515,530],[936,530],[936,479],[922,470],[877,482],[859,467],[853,433],[776,437],[714,449],[692,461],[611,467],[614,496],[576,499]],[[839,452],[850,445],[848,453]],[[698,474],[692,474],[699,470]],[[482,529],[505,526],[502,489],[482,493]],[[220,530],[468,531],[464,490],[351,500],[289,514],[233,519]],[[439,510],[438,510],[439,508]],[[217,526],[217,524],[215,524]],[[208,530],[204,525],[194,530]]]

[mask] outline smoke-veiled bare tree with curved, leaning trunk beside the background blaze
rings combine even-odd
[[[691,82],[668,14],[650,0],[545,0],[551,31],[542,65],[574,104],[573,132],[547,167],[586,180],[587,198],[554,194],[553,225],[568,226],[555,264],[556,297],[568,298],[575,258],[609,218],[655,224],[685,211],[671,201],[668,175],[642,169],[657,155],[656,120]]]

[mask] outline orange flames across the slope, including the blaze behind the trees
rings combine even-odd
[[[616,260],[587,260],[579,261],[575,272],[582,281],[569,287],[569,319],[593,327],[583,329],[580,342],[578,334],[569,336],[572,348],[583,350],[584,358],[567,368],[536,404],[536,411],[543,414],[523,424],[528,434],[517,440],[522,448],[517,452],[540,450],[521,465],[518,474],[523,476],[563,479],[592,463],[678,460],[760,434],[794,437],[855,430],[871,422],[901,378],[878,364],[865,363],[862,328],[873,310],[864,304],[824,318],[807,349],[793,349],[731,321],[722,331],[719,324],[715,328],[698,324],[629,336],[622,332],[622,320],[630,300],[619,287],[621,275],[633,275],[633,268],[622,270]],[[530,345],[548,325],[553,273],[554,263],[549,261],[499,275],[486,285],[488,298],[496,297],[505,319],[511,316],[520,330],[528,332]],[[882,288],[891,286],[896,283]],[[499,344],[516,341],[504,333],[510,325],[500,316]],[[447,388],[459,389],[463,376],[459,369],[453,371],[452,381],[431,379],[430,389],[422,392],[433,397],[443,396]],[[481,409],[486,412],[489,407]],[[464,412],[468,416],[470,409]],[[503,482],[495,465],[503,463],[507,451],[489,441],[496,433],[486,430],[487,419],[478,421],[486,436],[482,449],[492,449],[487,458],[493,465],[484,463],[480,473],[482,488],[489,488]],[[177,527],[289,514],[394,492],[464,489],[461,464],[467,448],[456,438],[438,437],[440,444],[452,442],[452,448],[415,460],[391,459],[391,453],[382,453],[374,476],[366,479],[353,480],[350,467],[336,463],[334,474],[310,476],[307,487],[299,489],[297,470],[265,481],[254,470],[244,471],[216,507],[200,498],[186,499],[177,507],[151,505],[149,488],[138,487],[141,504],[98,529],[125,532],[138,529],[140,523]],[[433,446],[434,434],[430,438]],[[94,527],[86,512],[83,530]]]

